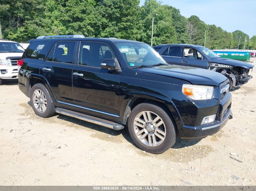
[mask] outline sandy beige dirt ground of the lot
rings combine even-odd
[[[18,85],[5,83],[0,185],[256,185],[256,68],[252,75],[232,91],[234,118],[220,132],[201,141],[179,139],[158,155],[143,153],[126,129],[63,115],[40,118]]]

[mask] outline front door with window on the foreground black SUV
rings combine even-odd
[[[108,45],[81,42],[78,63],[73,65],[73,102],[75,104],[118,114],[120,72],[101,68],[103,59],[114,59]]]

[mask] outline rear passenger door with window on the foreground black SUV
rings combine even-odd
[[[75,62],[76,41],[58,41],[40,68],[58,100],[73,101],[72,66]]]

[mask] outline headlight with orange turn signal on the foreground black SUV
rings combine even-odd
[[[182,92],[192,100],[208,100],[212,98],[213,87],[183,84]]]

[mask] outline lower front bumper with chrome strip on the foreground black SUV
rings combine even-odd
[[[184,125],[179,131],[180,138],[186,141],[191,141],[201,139],[218,132],[222,127],[225,126],[229,119],[233,118],[231,102],[231,94],[230,97],[228,97],[228,95],[223,97],[223,99],[220,100],[218,113],[213,123],[201,126]],[[204,111],[207,112],[209,109],[211,110],[210,107],[205,107]]]

